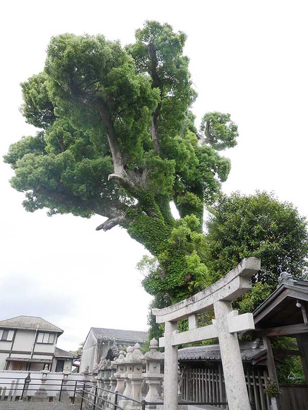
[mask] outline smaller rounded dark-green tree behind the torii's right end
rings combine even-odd
[[[219,196],[208,210],[205,253],[213,281],[243,258],[261,258],[253,290],[241,300],[243,311],[253,311],[275,290],[281,272],[306,277],[307,222],[291,203],[280,202],[266,192],[233,193]]]

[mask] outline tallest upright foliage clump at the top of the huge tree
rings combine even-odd
[[[152,88],[159,92],[162,149],[170,137],[179,135],[187,109],[197,96],[191,87],[189,60],[183,56],[185,40],[186,35],[175,33],[170,25],[150,21],[136,31],[136,43],[126,48],[137,72],[149,74]]]

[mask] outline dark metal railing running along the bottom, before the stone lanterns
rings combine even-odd
[[[42,383],[42,378],[37,378],[37,379],[30,379],[29,375],[25,379],[17,379],[15,381],[16,384],[12,384],[12,378],[11,377],[0,377],[0,380],[10,380],[11,381],[11,386],[6,389],[1,389],[0,391],[0,402],[1,400],[4,400],[6,398],[6,391],[8,391],[8,396],[7,400],[11,401],[12,399],[15,400],[17,397],[19,397],[19,400],[24,400],[25,395],[29,391],[38,391],[40,388],[34,386],[44,386],[44,389],[46,391],[46,395],[48,397],[47,392],[58,392],[59,397],[58,400],[61,402],[61,398],[63,393],[69,393],[73,392],[72,396],[69,396],[71,399],[71,403],[75,404],[75,402],[80,399],[80,410],[85,410],[85,408],[90,409],[90,410],[106,410],[107,408],[109,410],[125,410],[125,405],[123,404],[123,401],[130,401],[136,403],[136,407],[140,407],[141,410],[145,410],[146,406],[148,405],[163,405],[164,402],[148,402],[146,400],[136,400],[132,399],[131,397],[124,396],[123,394],[120,394],[118,392],[112,392],[110,389],[105,389],[102,387],[99,387],[98,385],[94,385],[89,381],[81,381],[78,379],[51,379],[51,378],[46,378],[44,382]],[[33,383],[33,381],[40,381],[40,383]],[[22,382],[20,382],[22,381]],[[59,382],[59,383],[50,383],[50,382]],[[73,382],[73,384],[71,384]],[[70,383],[70,384],[68,384]],[[8,385],[9,383],[6,382],[1,382],[0,381],[0,386],[6,384]],[[21,385],[22,387],[18,387]],[[46,388],[48,386],[48,388]],[[50,387],[51,388],[50,388]],[[13,394],[12,392],[21,392],[20,396],[17,396],[17,394]],[[28,396],[29,397],[29,396]],[[31,395],[31,397],[33,397]],[[121,404],[119,404],[121,403]],[[84,406],[86,404],[86,406]],[[182,401],[180,400],[178,402],[179,405],[183,404],[194,404],[194,405],[227,405],[227,402],[218,402],[218,401],[208,401],[208,402],[192,402],[192,401]]]

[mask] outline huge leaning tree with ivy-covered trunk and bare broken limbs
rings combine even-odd
[[[230,170],[219,151],[238,135],[219,112],[197,131],[185,39],[157,22],[124,48],[102,35],[51,38],[44,71],[22,84],[23,114],[39,130],[5,156],[26,210],[98,214],[108,219],[97,230],[120,226],[142,243],[157,261],[144,288],[165,304],[211,283],[203,209]]]

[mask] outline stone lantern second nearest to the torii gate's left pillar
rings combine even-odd
[[[142,387],[142,365],[143,365],[144,356],[140,351],[140,344],[136,343],[133,346],[133,351],[130,354],[127,354],[124,359],[127,372],[127,381],[130,381],[130,396],[134,400],[140,400],[141,397],[141,387]],[[139,403],[136,403],[132,400],[127,400],[124,402],[124,407],[126,410],[133,410],[139,407]]]

